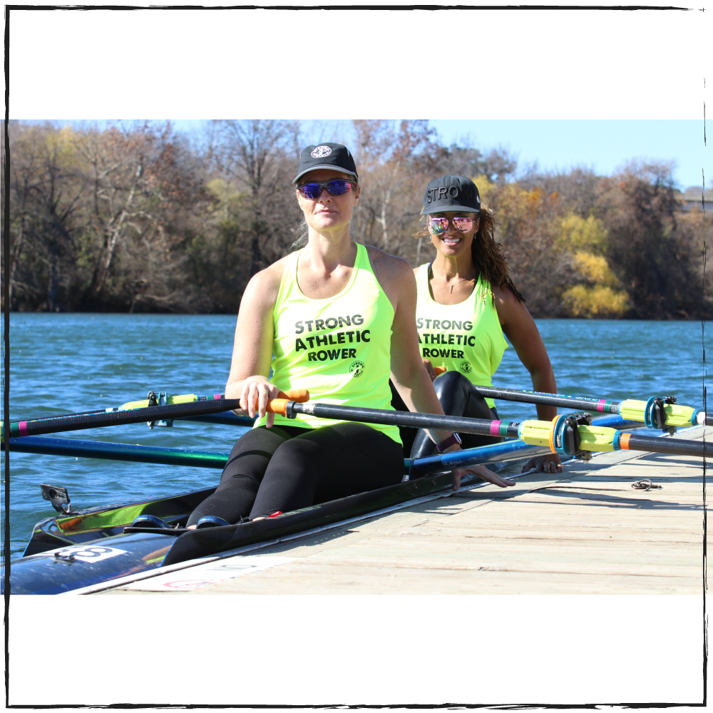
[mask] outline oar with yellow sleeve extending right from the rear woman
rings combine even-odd
[[[436,374],[443,374],[442,366],[434,367]],[[543,391],[520,391],[519,389],[498,389],[494,386],[476,386],[478,393],[488,399],[521,401],[524,404],[562,406],[565,409],[581,409],[592,413],[620,414],[627,421],[637,421],[650,429],[665,429],[667,426],[713,426],[713,414],[699,411],[692,406],[676,403],[675,396],[652,396],[648,401],[625,399],[590,399],[588,396],[567,396],[566,394],[546,394]]]

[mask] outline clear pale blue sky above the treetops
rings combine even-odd
[[[102,124],[103,122],[98,122]],[[704,148],[702,120],[550,120],[483,119],[430,122],[446,144],[468,141],[480,150],[506,148],[518,160],[518,173],[537,163],[540,170],[592,168],[611,175],[630,160],[672,161],[678,188],[702,185],[707,160],[706,185],[711,185],[713,165]],[[175,128],[193,133],[205,120],[173,120]],[[344,140],[352,134],[348,121],[306,121],[307,141]]]

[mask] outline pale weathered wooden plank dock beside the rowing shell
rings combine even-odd
[[[700,458],[602,453],[98,593],[700,594],[703,483]]]

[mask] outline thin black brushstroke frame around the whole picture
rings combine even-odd
[[[524,709],[583,709],[597,710],[602,705],[617,706],[622,708],[672,708],[672,707],[706,707],[707,706],[707,670],[708,670],[708,628],[706,618],[706,590],[707,590],[707,509],[706,509],[706,458],[703,458],[703,700],[701,703],[609,703],[609,704],[513,704],[513,705],[491,705],[491,704],[469,704],[469,703],[442,703],[442,704],[316,704],[316,705],[291,705],[291,704],[57,704],[57,705],[10,705],[9,704],[9,608],[10,608],[10,558],[5,553],[10,550],[10,451],[9,451],[9,434],[10,434],[10,415],[9,415],[9,399],[10,399],[10,300],[9,300],[9,246],[10,246],[10,146],[9,146],[9,103],[10,103],[10,11],[11,10],[76,10],[76,11],[92,11],[92,10],[365,10],[365,11],[389,11],[389,10],[426,10],[426,11],[447,11],[447,10],[617,10],[617,11],[638,11],[638,10],[661,10],[661,11],[692,11],[694,8],[681,6],[651,6],[651,5],[313,5],[313,6],[294,6],[294,5],[225,5],[225,6],[202,6],[202,5],[6,5],[5,6],[5,33],[4,33],[4,72],[5,72],[5,121],[4,121],[4,139],[5,139],[5,165],[4,165],[4,225],[2,251],[4,260],[2,262],[2,273],[4,278],[3,285],[3,319],[4,319],[4,388],[3,388],[3,408],[4,408],[4,435],[3,448],[5,455],[4,473],[5,473],[5,508],[4,508],[4,539],[3,539],[3,560],[5,566],[5,590],[4,590],[4,645],[5,645],[5,707],[7,709],[75,709],[75,708],[99,708],[99,709],[147,709],[147,708],[176,708],[176,709],[447,709],[447,708],[465,708],[465,709],[494,709],[494,710],[524,710]],[[704,79],[705,86],[705,79]],[[706,125],[705,125],[705,102],[703,104],[703,143],[704,148],[706,143]],[[702,193],[702,210],[706,212],[705,204],[705,173],[702,168],[703,193]],[[702,271],[702,294],[704,294],[705,278],[706,278],[706,260],[707,260],[707,245],[705,233],[703,237],[703,271]],[[707,389],[705,386],[705,319],[701,320],[701,342],[702,342],[702,366],[703,366],[703,410],[707,412]],[[704,443],[705,434],[703,438]]]

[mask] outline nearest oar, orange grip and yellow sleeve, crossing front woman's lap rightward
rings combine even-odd
[[[509,436],[520,438],[531,446],[549,446],[553,453],[563,458],[578,457],[591,451],[630,451],[672,453],[677,456],[713,455],[713,447],[700,441],[684,441],[681,438],[657,438],[627,434],[605,426],[591,425],[591,416],[555,416],[549,421],[490,421],[468,419],[465,416],[440,416],[437,414],[412,414],[386,409],[360,409],[356,406],[335,404],[300,403],[295,401],[270,401],[275,413],[296,418],[297,414],[317,416],[322,419],[359,421],[364,424],[387,426],[411,426],[437,431],[456,431],[479,436]]]

